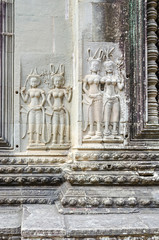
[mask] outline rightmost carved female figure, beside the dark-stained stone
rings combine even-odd
[[[118,135],[118,124],[120,118],[120,97],[118,90],[124,88],[124,78],[117,73],[116,64],[110,59],[114,48],[105,51],[105,76],[102,78],[104,83],[103,96],[103,116],[105,122],[104,136]],[[112,131],[110,130],[112,124]]]

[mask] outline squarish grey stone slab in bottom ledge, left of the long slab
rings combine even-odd
[[[24,205],[22,219],[23,237],[64,236],[64,216],[54,205]]]

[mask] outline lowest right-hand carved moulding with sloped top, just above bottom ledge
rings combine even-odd
[[[114,190],[113,190],[114,189]],[[57,201],[56,205],[60,211],[64,208],[74,208],[72,213],[77,213],[78,208],[81,208],[81,213],[85,214],[87,209],[91,212],[91,208],[96,212],[102,213],[100,208],[112,208],[116,213],[118,208],[123,208],[123,211],[127,211],[127,208],[159,208],[159,201],[157,198],[157,189],[155,187],[90,187],[85,186],[79,188],[76,186],[71,186],[68,183],[64,183],[60,187],[60,201]],[[147,195],[145,196],[145,191]],[[98,209],[99,208],[99,209]],[[92,210],[93,210],[92,209]],[[116,210],[115,210],[116,209]]]

